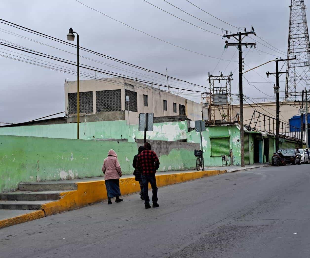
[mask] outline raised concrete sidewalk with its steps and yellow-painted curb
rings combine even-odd
[[[219,175],[244,169],[253,169],[267,164],[240,166],[206,167],[203,171],[182,170],[157,172],[157,186],[182,183],[206,176]],[[122,195],[140,191],[134,175],[120,178]],[[81,178],[61,181],[20,183],[16,192],[2,194],[0,201],[0,228],[38,219],[55,213],[76,209],[107,199],[104,177]],[[35,198],[42,197],[38,200]],[[15,198],[15,199],[13,199]],[[34,209],[38,209],[35,210]]]

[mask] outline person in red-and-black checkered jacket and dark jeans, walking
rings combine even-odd
[[[156,170],[159,168],[159,160],[154,151],[151,150],[151,144],[146,142],[144,144],[144,151],[142,151],[137,160],[137,167],[142,173],[142,182],[143,182],[143,193],[144,193],[144,204],[145,209],[151,208],[150,198],[148,197],[148,183],[152,187],[152,202],[153,207],[159,207],[157,203],[157,185],[156,185]]]

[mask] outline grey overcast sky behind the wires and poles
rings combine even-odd
[[[233,33],[237,32],[236,28],[206,14],[186,0],[167,1],[207,23],[213,24],[219,28],[224,28],[224,30],[231,30]],[[180,49],[149,37],[141,32],[135,31],[124,24],[83,6],[75,0],[2,0],[1,18],[63,40],[66,40],[68,29],[72,27],[80,35],[80,46],[161,73],[166,73],[167,67],[170,76],[203,86],[208,86],[208,82],[206,81],[208,71],[213,72],[214,75],[219,74],[219,71],[225,71],[225,74],[230,71],[235,71],[233,75],[234,81],[232,82],[232,92],[238,93],[238,71],[236,70],[238,65],[238,55],[236,53],[236,48],[231,46],[224,51],[224,41],[226,39],[210,32],[206,32],[201,28],[220,35],[223,34],[222,30],[199,21],[162,0],[148,0],[148,2],[151,2],[201,28],[187,24],[184,21],[151,6],[143,0],[81,0],[81,2],[154,37],[200,54]],[[246,27],[247,31],[253,26],[257,36],[286,53],[290,14],[289,0],[191,0],[190,2],[229,24],[237,27]],[[308,4],[308,0],[305,0],[305,4]],[[29,32],[24,32],[5,24],[0,24],[0,41],[10,41],[14,44],[42,53],[76,61],[76,56],[73,54],[27,39],[22,39],[16,35],[8,34],[12,32],[69,52],[76,52],[72,47],[33,35]],[[258,43],[257,41],[267,45],[267,43],[263,42],[261,39],[254,35],[251,37],[254,40],[246,38],[244,42],[256,42],[257,49],[268,52],[269,54],[259,52],[255,49],[249,50],[244,48],[243,56],[245,57],[245,70],[248,70],[249,67],[255,67],[256,65],[272,60],[278,56],[282,58],[286,57],[286,54],[279,54]],[[233,41],[229,40],[229,42]],[[269,47],[272,48],[271,46]],[[18,50],[3,46],[0,46],[0,48],[0,51],[6,53],[0,53],[2,55],[9,56],[8,54],[13,54],[35,60],[20,55],[25,54],[32,56],[31,54],[21,53]],[[9,52],[9,50],[20,54]],[[219,59],[206,57],[201,54],[226,60],[232,59],[232,62],[225,60],[219,61]],[[108,67],[102,63],[81,58],[80,62],[84,64],[89,64],[108,71],[123,73],[128,76],[138,77],[144,80],[154,79],[156,82],[161,81],[161,83],[165,83],[165,78],[160,75],[152,75],[132,67],[126,67],[117,62],[84,51],[81,51],[80,55],[93,58],[100,62],[105,62],[109,65],[118,66],[122,69],[130,69],[133,72],[129,73],[129,71],[126,70],[121,71],[118,68]],[[32,57],[40,58],[38,56]],[[45,58],[40,59],[44,60],[44,62],[53,62],[57,66],[62,65],[72,69],[72,66],[67,64]],[[40,60],[36,61],[43,62]],[[64,82],[66,79],[76,80],[76,75],[50,70],[1,56],[0,63],[0,122],[26,122],[64,111]],[[284,69],[286,69],[286,67],[284,67]],[[261,82],[255,83],[254,85],[261,89],[265,94],[273,97],[274,94],[272,87],[274,80],[271,78],[269,81],[272,83],[268,83],[266,71],[274,70],[275,64],[272,62],[256,69],[255,71],[258,74],[251,71],[246,73],[245,76],[250,82]],[[94,72],[92,71],[86,72],[94,75]],[[137,72],[144,73],[144,75]],[[98,75],[98,73],[97,76],[106,77],[105,75]],[[285,75],[282,76],[283,78],[281,78],[280,81],[285,80]],[[190,86],[172,81],[170,83],[174,84],[175,87],[191,88]],[[281,91],[284,91],[285,82],[281,82],[280,87]],[[201,88],[192,88],[195,90],[201,90]],[[247,97],[271,98],[262,92],[259,92],[253,86],[248,85],[244,79],[244,94]],[[281,95],[284,95],[284,93],[281,92]],[[197,102],[200,102],[201,100],[201,95],[199,93],[183,96]],[[262,99],[253,99],[253,101],[262,101]]]

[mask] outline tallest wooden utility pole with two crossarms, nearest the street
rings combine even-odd
[[[227,37],[228,39],[230,37],[234,37],[238,43],[228,43],[228,41],[225,41],[226,45],[225,48],[228,48],[228,46],[238,46],[239,50],[239,104],[240,104],[240,149],[241,149],[241,167],[244,167],[244,128],[243,128],[243,89],[242,89],[242,46],[248,46],[252,47],[256,45],[256,43],[242,43],[242,40],[248,36],[248,34],[255,34],[254,28],[252,28],[252,31],[246,32],[246,29],[244,29],[245,32],[238,32],[237,34],[231,34],[231,35],[224,35],[224,37]],[[226,34],[228,32],[226,31]],[[243,37],[242,37],[243,36]]]

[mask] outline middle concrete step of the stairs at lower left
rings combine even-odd
[[[15,191],[0,194],[0,200],[45,201],[59,200],[63,191]]]

